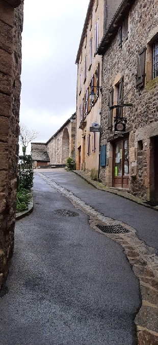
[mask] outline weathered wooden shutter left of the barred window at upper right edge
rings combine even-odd
[[[138,65],[137,65],[137,87],[141,87],[144,85],[145,80],[145,51],[146,48],[144,47],[138,54]]]

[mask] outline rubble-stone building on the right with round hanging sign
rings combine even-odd
[[[157,10],[157,0],[123,0],[97,49],[102,56],[100,143],[105,152],[99,177],[109,187],[126,188],[134,195],[155,201],[158,201]]]

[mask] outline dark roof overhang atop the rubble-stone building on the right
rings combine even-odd
[[[130,8],[135,3],[135,0],[122,0],[118,10],[116,11],[112,21],[110,22],[110,25],[107,29],[107,31],[104,33],[96,54],[103,55],[107,48],[109,47],[109,44],[112,42],[113,38],[118,33],[118,29],[120,25],[122,24],[122,21],[124,20],[125,16],[128,14]]]

